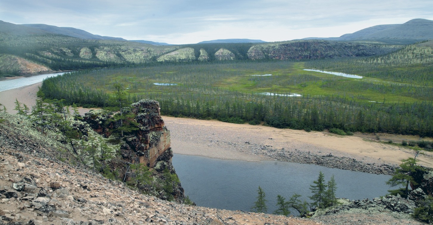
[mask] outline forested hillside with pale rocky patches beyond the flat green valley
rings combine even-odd
[[[173,62],[346,58],[380,55],[401,47],[317,40],[156,46],[104,38],[74,28],[0,21],[0,76]],[[26,70],[26,64],[41,69]]]

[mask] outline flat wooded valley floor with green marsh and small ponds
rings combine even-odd
[[[171,64],[74,72],[45,80],[45,97],[112,106],[113,84],[132,101],[158,100],[171,116],[249,122],[279,128],[433,136],[430,43],[371,58],[308,62]],[[414,51],[409,51],[414,49]],[[429,50],[430,49],[430,50]],[[425,51],[424,51],[425,50]],[[419,52],[423,61],[417,62]],[[413,58],[412,63],[400,55]],[[385,59],[394,58],[395,60]],[[425,58],[425,59],[424,59]],[[380,62],[380,63],[377,63]],[[356,72],[362,79],[304,71]]]

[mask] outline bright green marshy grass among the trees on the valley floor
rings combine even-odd
[[[243,71],[245,75],[217,81],[216,87],[243,93],[298,93],[304,96],[345,96],[362,102],[414,103],[429,100],[431,96],[410,96],[406,83],[364,77],[362,79],[338,77],[320,72],[304,71],[304,63],[293,63],[289,68],[269,71]],[[272,74],[255,76],[252,74]],[[395,87],[390,87],[394,84]],[[406,85],[406,86],[405,86]],[[384,90],[385,89],[385,90]],[[406,96],[405,96],[406,95]]]

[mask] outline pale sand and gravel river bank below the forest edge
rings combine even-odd
[[[0,92],[0,103],[8,113],[16,113],[15,99],[32,106],[41,83]],[[81,113],[89,109],[80,109]],[[327,155],[349,157],[363,163],[400,164],[414,157],[414,151],[356,136],[339,136],[329,132],[277,129],[263,125],[232,124],[215,120],[199,120],[163,116],[171,133],[174,153],[200,155],[246,161],[275,160],[265,152],[284,154]],[[433,153],[424,151],[417,159],[433,167]]]

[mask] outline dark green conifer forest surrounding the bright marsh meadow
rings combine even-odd
[[[113,106],[110,103],[114,91],[112,84],[120,83],[127,89],[129,93],[127,97],[131,101],[143,98],[157,100],[161,104],[161,113],[168,116],[219,119],[224,122],[250,124],[265,122],[277,128],[307,131],[337,128],[350,132],[433,136],[431,100],[388,103],[384,99],[378,103],[356,100],[342,94],[301,97],[266,96],[260,92],[245,93],[215,85],[219,80],[240,76],[245,73],[243,70],[253,70],[255,68],[253,66],[263,66],[262,70],[265,70],[266,67],[282,65],[262,63],[251,65],[251,68],[247,63],[244,65],[173,65],[80,71],[44,80],[41,91],[45,98],[65,99],[68,104],[110,107]],[[222,68],[230,71],[218,73]],[[239,68],[239,71],[236,68]],[[185,74],[173,75],[170,72],[169,76],[162,75],[172,70],[184,71]],[[137,75],[140,73],[148,75]],[[116,74],[124,75],[116,76]],[[163,79],[162,82],[179,85],[158,87],[153,84],[159,81],[158,78]],[[299,78],[295,76],[294,79]],[[376,88],[376,86],[365,87]],[[350,87],[350,85],[344,86],[344,88]],[[428,94],[432,93],[430,89],[425,94],[427,96],[421,97],[430,97]]]

